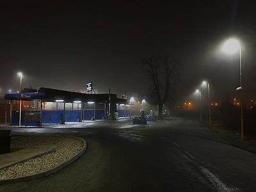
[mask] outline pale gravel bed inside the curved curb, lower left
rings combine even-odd
[[[0,179],[13,179],[45,172],[78,154],[83,145],[83,141],[69,137],[21,136],[15,138],[11,143],[13,148],[53,148],[56,152],[4,168],[0,170]]]

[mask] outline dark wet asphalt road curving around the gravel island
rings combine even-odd
[[[122,120],[13,134],[79,136],[88,149],[51,177],[0,191],[256,191],[256,154],[193,120],[141,126]]]

